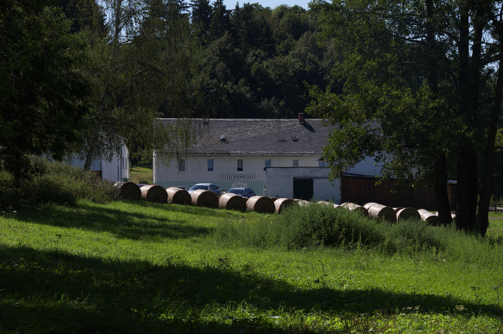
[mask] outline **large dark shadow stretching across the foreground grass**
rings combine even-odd
[[[498,307],[452,296],[339,290],[323,286],[322,278],[299,289],[251,265],[233,268],[228,259],[196,268],[170,259],[152,264],[0,245],[0,277],[0,329],[6,331],[283,332],[268,316],[253,315],[281,308],[361,314],[417,305],[422,312],[454,311],[463,304],[475,314],[501,315]],[[233,302],[246,302],[247,313],[230,316],[237,312],[229,308]]]

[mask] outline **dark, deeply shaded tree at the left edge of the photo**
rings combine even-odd
[[[76,140],[88,93],[83,40],[49,1],[0,5],[0,158],[19,184],[26,154],[62,159]]]

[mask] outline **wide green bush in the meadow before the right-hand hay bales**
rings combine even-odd
[[[389,223],[316,203],[292,206],[272,217],[253,223],[224,222],[215,229],[215,237],[221,242],[256,247],[363,246],[387,254],[423,250],[450,252],[458,247],[459,242],[472,242],[472,239],[479,238],[458,231],[454,226],[434,227],[417,219]]]

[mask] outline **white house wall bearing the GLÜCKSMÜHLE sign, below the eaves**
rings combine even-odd
[[[207,159],[213,158],[213,172],[207,171]],[[228,190],[237,183],[246,184],[259,195],[263,195],[266,185],[264,160],[271,159],[272,167],[292,166],[292,159],[299,159],[299,166],[318,166],[318,156],[190,156],[186,158],[186,171],[178,172],[175,160],[170,167],[163,164],[160,156],[154,156],[154,183],[164,188],[185,186],[187,189],[197,183],[215,183],[220,189]],[[237,159],[243,159],[243,171],[237,172]],[[253,176],[254,180],[222,180],[222,175]]]

